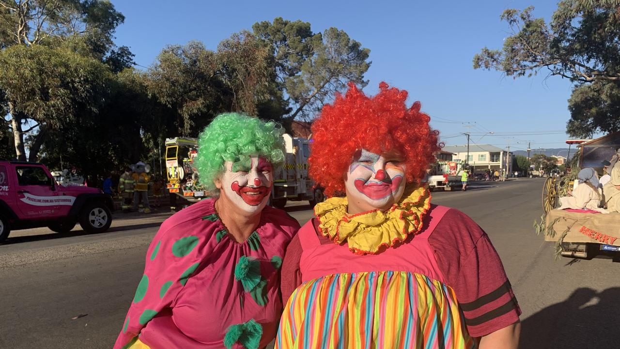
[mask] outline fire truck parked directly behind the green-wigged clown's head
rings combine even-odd
[[[285,163],[273,173],[272,206],[282,208],[287,201],[308,200],[311,206],[325,200],[322,188],[315,188],[308,178],[310,140],[284,134]],[[197,202],[205,193],[198,171],[193,165],[198,155],[197,138],[175,137],[166,139],[167,188],[170,193]]]

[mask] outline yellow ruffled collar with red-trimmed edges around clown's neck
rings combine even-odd
[[[354,215],[347,213],[346,197],[331,197],[316,204],[314,214],[323,235],[337,244],[347,242],[353,253],[374,255],[382,247],[392,247],[410,234],[420,233],[430,197],[427,187],[408,186],[401,201],[386,212],[377,209]]]

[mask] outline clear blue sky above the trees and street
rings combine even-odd
[[[314,32],[345,30],[370,48],[373,62],[365,91],[375,94],[381,81],[409,91],[409,102],[422,102],[446,145],[472,142],[511,150],[564,148],[570,118],[571,84],[546,71],[535,78],[512,79],[497,71],[474,70],[482,47],[500,48],[508,26],[499,16],[508,8],[533,5],[534,15],[549,19],[552,1],[198,1],[112,0],[126,19],[117,29],[117,45],[135,53],[148,67],[169,44],[200,40],[215,49],[219,41],[260,20],[281,16],[310,22]],[[449,120],[449,121],[446,121]],[[470,126],[470,127],[466,127]],[[501,135],[518,133],[546,135]]]

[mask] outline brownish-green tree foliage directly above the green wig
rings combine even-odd
[[[176,132],[196,137],[221,112],[282,110],[273,93],[270,52],[249,32],[233,34],[207,50],[201,42],[164,48],[149,69],[148,91],[175,109]],[[281,114],[280,114],[281,115]],[[279,119],[278,114],[264,115]]]

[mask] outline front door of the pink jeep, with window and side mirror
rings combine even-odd
[[[48,218],[58,215],[61,197],[53,191],[54,179],[36,165],[15,165],[17,177],[17,207],[24,217],[30,219]],[[69,203],[71,206],[73,202]]]

